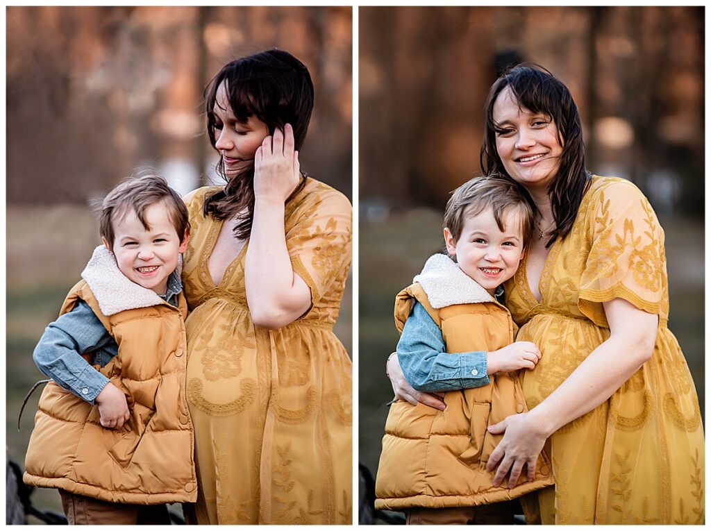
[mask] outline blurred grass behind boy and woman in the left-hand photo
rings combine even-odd
[[[24,468],[24,455],[41,395],[36,390],[17,417],[23,397],[37,380],[44,379],[32,352],[45,326],[57,317],[68,290],[79,279],[98,244],[97,223],[85,208],[7,209],[7,315],[6,315],[6,444],[11,459]],[[334,331],[352,353],[353,298],[351,276]],[[32,500],[45,510],[61,513],[56,490],[37,489]],[[175,507],[179,511],[179,507]],[[38,523],[31,519],[30,523]]]

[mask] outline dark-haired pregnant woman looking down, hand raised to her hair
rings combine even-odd
[[[299,171],[313,103],[280,50],[225,65],[206,92],[228,182],[186,198],[198,523],[351,523],[351,360],[332,331],[351,205]]]

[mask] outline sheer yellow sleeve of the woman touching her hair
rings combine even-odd
[[[318,183],[287,224],[287,248],[294,272],[311,289],[314,306],[334,281],[345,281],[351,264],[351,203],[345,195]]]

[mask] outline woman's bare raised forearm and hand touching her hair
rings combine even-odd
[[[311,306],[311,290],[292,269],[284,203],[299,183],[299,153],[287,124],[267,136],[255,153],[255,210],[245,257],[245,289],[252,322],[281,328]]]

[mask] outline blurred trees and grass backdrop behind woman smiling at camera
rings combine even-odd
[[[395,294],[443,249],[449,193],[480,171],[488,90],[522,61],[570,88],[588,169],[651,200],[703,413],[704,8],[360,7],[359,34],[360,461],[375,473]]]

